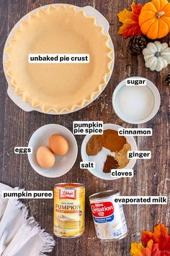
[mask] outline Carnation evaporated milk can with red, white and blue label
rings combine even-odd
[[[120,196],[118,190],[107,190],[89,197],[97,237],[105,241],[122,239],[128,233],[122,205],[114,203],[115,196]]]

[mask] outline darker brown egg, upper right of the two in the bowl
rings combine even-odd
[[[61,135],[52,135],[49,139],[49,145],[56,155],[65,155],[68,152],[68,141]]]

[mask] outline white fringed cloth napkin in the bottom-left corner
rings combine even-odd
[[[0,256],[45,256],[55,241],[17,199],[4,199],[1,192],[12,187],[0,183]],[[18,188],[15,188],[18,189]]]

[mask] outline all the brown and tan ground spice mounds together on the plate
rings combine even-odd
[[[92,135],[86,144],[87,155],[97,155],[102,148],[107,148],[113,155],[107,155],[104,160],[104,173],[109,173],[113,168],[125,168],[129,163],[128,151],[131,150],[130,144],[124,136],[119,136],[113,129],[106,129],[103,135]]]

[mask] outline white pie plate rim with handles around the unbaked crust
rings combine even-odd
[[[59,4],[53,4],[53,7],[58,7]],[[30,14],[35,14],[37,13],[37,11],[40,9],[40,12],[42,12],[42,9],[48,9],[50,8],[51,5],[47,5],[44,7],[40,7],[38,9],[33,10],[32,12],[30,12],[29,14],[26,14],[24,17],[22,17],[21,20],[19,20],[19,22],[17,22],[17,24],[13,27],[11,33],[9,33],[9,37],[6,40],[6,44],[4,46],[4,49],[6,49],[9,46],[9,43],[12,41],[11,39],[13,38],[13,33],[14,31],[16,31],[17,29],[19,29],[19,24],[20,22],[24,22],[25,20],[28,20],[28,18],[30,17]],[[66,4],[66,7],[74,7],[72,5]],[[112,69],[114,66],[114,47],[112,45],[112,40],[109,36],[109,23],[107,22],[107,20],[102,16],[102,14],[100,14],[99,12],[97,12],[96,9],[94,9],[93,7],[75,7],[76,11],[79,10],[84,10],[86,17],[94,17],[96,19],[96,23],[97,26],[102,25],[102,27],[104,28],[103,33],[104,35],[107,35],[107,44],[108,44],[108,48],[110,49],[110,64],[109,64],[109,72],[106,73],[105,78],[104,78],[104,83],[100,86],[99,90],[96,90],[95,93],[91,93],[90,98],[88,98],[88,100],[84,100],[84,102],[81,102],[81,104],[78,104],[79,106],[74,105],[72,108],[62,108],[61,111],[56,111],[53,110],[53,108],[46,108],[43,109],[42,106],[32,106],[32,104],[30,102],[27,102],[27,97],[24,98],[24,101],[22,101],[22,97],[21,95],[17,95],[15,93],[15,88],[14,86],[11,86],[11,78],[9,77],[8,73],[8,69],[6,69],[5,65],[4,65],[4,73],[6,75],[6,80],[9,84],[7,93],[9,95],[9,97],[12,99],[12,101],[14,101],[14,103],[17,104],[17,106],[19,106],[20,108],[22,108],[22,110],[24,111],[40,111],[42,113],[46,113],[46,114],[68,114],[71,113],[73,111],[77,111],[81,108],[84,108],[85,106],[89,105],[89,103],[91,103],[92,101],[94,101],[101,93],[102,90],[104,90],[104,88],[106,87],[107,83],[109,82],[109,79],[111,77],[112,74]],[[92,19],[92,18],[91,18]],[[8,55],[6,54],[6,51],[4,51],[4,56],[3,56],[3,62],[8,60]],[[48,64],[49,65],[49,64]],[[34,104],[33,104],[34,105]]]

